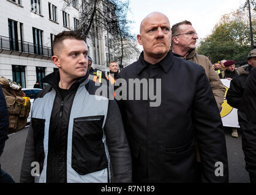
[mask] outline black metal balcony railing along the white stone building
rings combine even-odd
[[[42,57],[51,57],[52,55],[51,48],[47,46],[29,43],[27,41],[15,40],[3,36],[0,36],[0,50],[40,55]]]

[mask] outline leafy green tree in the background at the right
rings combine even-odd
[[[198,54],[208,56],[211,62],[226,59],[235,60],[236,65],[246,63],[247,54],[251,49],[249,14],[246,5],[247,1],[235,12],[222,16],[213,33],[200,42]],[[252,1],[252,5],[255,10],[255,2]],[[252,12],[252,29],[256,40],[255,12]]]

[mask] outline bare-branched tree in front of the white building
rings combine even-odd
[[[129,0],[82,0],[78,30],[85,38],[100,38],[102,32],[107,32],[111,36],[115,46],[115,60],[119,60],[122,67],[124,57],[129,55],[127,45],[134,43],[134,35],[130,33],[127,20]],[[66,6],[72,4],[72,0],[67,1]],[[125,43],[124,43],[125,42]],[[127,44],[130,42],[130,44]],[[109,43],[108,43],[109,44]],[[110,46],[108,45],[108,48]],[[133,48],[136,48],[133,45]],[[108,52],[110,61],[110,52]]]

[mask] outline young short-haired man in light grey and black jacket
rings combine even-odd
[[[115,100],[97,94],[88,76],[88,47],[64,31],[53,41],[59,71],[32,107],[20,182],[131,182],[131,158]]]

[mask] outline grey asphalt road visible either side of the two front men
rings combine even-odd
[[[2,169],[8,172],[15,182],[20,182],[21,163],[27,134],[28,127],[10,134],[9,140],[6,141],[4,153],[0,159]],[[244,168],[245,162],[241,145],[241,135],[239,134],[239,138],[232,138],[230,135],[231,129],[226,128],[225,137],[228,151],[230,183],[248,183],[250,180],[249,174]]]

